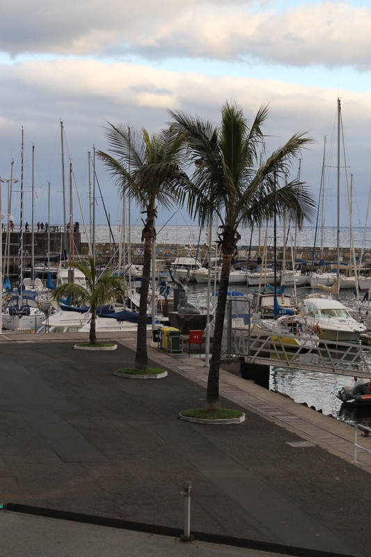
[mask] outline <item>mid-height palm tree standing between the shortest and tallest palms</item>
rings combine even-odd
[[[146,215],[145,220],[142,219],[143,274],[135,356],[136,369],[145,370],[148,368],[148,288],[152,242],[156,240],[157,205],[168,209],[175,203],[181,205],[184,200],[180,190],[180,183],[187,180],[180,166],[184,142],[173,127],[150,136],[144,128],[130,130],[126,125],[110,123],[106,127],[106,138],[112,155],[98,151],[98,157],[115,178],[120,194],[125,193],[135,200]],[[155,285],[152,290],[155,292]]]

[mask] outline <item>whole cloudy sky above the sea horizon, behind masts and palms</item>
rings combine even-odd
[[[13,178],[20,180],[22,128],[24,219],[31,222],[33,170],[35,221],[48,219],[50,182],[50,221],[63,222],[62,121],[65,188],[71,161],[74,220],[82,222],[79,197],[88,224],[88,152],[108,149],[107,121],[152,133],[169,122],[167,109],[181,109],[218,123],[221,106],[230,101],[249,120],[269,103],[267,152],[294,132],[315,139],[302,153],[301,179],[316,200],[326,136],[325,224],[336,225],[339,97],[341,224],[349,222],[347,185],[350,189],[352,182],[354,224],[365,226],[371,179],[370,29],[371,7],[358,0],[8,2],[0,19],[2,212],[8,212],[12,161]],[[291,178],[298,171],[293,167]],[[106,212],[117,224],[118,191],[99,161],[96,172]],[[97,223],[106,223],[99,190],[97,197]],[[13,185],[11,212],[19,223],[19,182]],[[171,214],[159,210],[159,222]],[[131,217],[132,223],[141,222],[134,206]],[[190,222],[184,210],[171,219],[172,224]]]

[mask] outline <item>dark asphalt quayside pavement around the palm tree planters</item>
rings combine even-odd
[[[24,503],[194,530],[370,554],[371,476],[257,414],[242,425],[177,418],[202,386],[113,375],[134,352],[73,343],[0,345],[0,503]],[[228,400],[226,407],[235,406]]]

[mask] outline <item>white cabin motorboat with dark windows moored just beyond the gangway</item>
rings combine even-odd
[[[340,301],[319,295],[303,301],[299,315],[306,319],[310,327],[317,327],[320,340],[354,342],[366,330],[358,323]]]

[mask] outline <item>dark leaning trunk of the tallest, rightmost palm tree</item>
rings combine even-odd
[[[219,283],[218,304],[216,305],[214,339],[212,343],[212,360],[210,363],[209,376],[207,378],[207,393],[205,410],[218,411],[219,402],[219,369],[221,356],[221,339],[223,336],[224,315],[226,313],[228,281],[230,275],[230,263],[232,255],[223,253],[221,265],[221,277]]]

